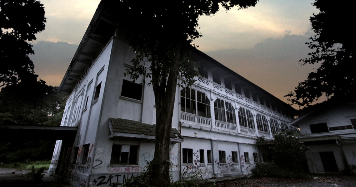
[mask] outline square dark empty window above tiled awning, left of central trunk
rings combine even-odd
[[[124,79],[122,81],[121,96],[141,100],[142,85]]]

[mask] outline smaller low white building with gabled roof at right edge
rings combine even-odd
[[[311,173],[356,173],[356,103],[326,101],[290,124],[305,135]]]

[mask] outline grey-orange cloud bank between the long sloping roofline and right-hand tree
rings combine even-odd
[[[298,82],[319,65],[301,66],[300,59],[307,57],[308,37],[286,34],[282,39],[268,38],[250,49],[224,49],[205,52],[231,70],[282,101]]]

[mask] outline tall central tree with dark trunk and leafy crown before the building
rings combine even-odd
[[[237,6],[255,6],[257,0],[172,0],[172,1],[106,1],[106,14],[116,18],[120,32],[136,56],[125,75],[151,80],[156,104],[156,146],[151,185],[168,186],[169,135],[177,84],[191,85],[198,76],[198,65],[189,55],[197,31],[199,16],[214,15],[220,8],[228,11]],[[180,79],[181,82],[177,82]],[[144,82],[145,83],[145,82]]]

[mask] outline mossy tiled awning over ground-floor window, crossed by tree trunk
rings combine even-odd
[[[136,137],[155,139],[156,125],[149,125],[140,121],[110,118],[109,128],[112,136],[124,136],[124,137]],[[126,136],[125,134],[138,134],[137,136]],[[171,128],[170,138],[182,139],[179,131],[175,128]]]

